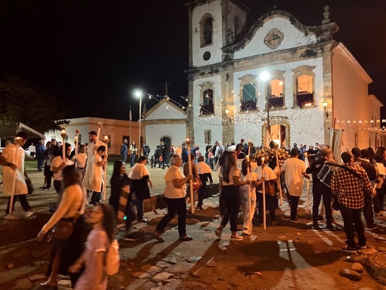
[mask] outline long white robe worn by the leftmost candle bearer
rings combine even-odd
[[[17,166],[16,171],[9,166],[3,166],[3,195],[7,197],[12,194],[26,195],[28,189],[24,179],[24,149],[11,144],[4,148],[2,156],[6,158],[7,162]]]

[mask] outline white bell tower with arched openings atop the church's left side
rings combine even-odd
[[[221,48],[243,37],[246,0],[189,0],[189,68],[222,62]],[[245,35],[245,34],[244,34]]]

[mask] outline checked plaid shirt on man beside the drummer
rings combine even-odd
[[[352,173],[338,168],[331,180],[331,191],[338,196],[338,202],[345,207],[359,209],[365,203],[365,194],[371,195],[372,187],[366,171],[356,164],[345,164],[348,168],[357,172],[361,179]]]

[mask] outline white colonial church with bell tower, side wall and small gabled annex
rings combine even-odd
[[[273,10],[251,27],[244,1],[190,0],[186,6],[189,105],[183,110],[163,100],[145,114],[151,148],[161,139],[177,145],[187,137],[200,147],[241,138],[260,146],[268,122],[284,146],[331,145],[334,119],[344,130],[342,150],[385,145],[376,130],[383,105],[368,93],[369,75],[333,40],[339,27],[330,22],[328,6],[318,26]]]

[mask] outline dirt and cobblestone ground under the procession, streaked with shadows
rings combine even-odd
[[[150,169],[155,185],[152,192],[162,192],[165,172],[162,169]],[[36,187],[42,185],[40,173],[30,172],[29,175]],[[218,180],[216,173],[213,175]],[[28,197],[38,212],[36,218],[1,219],[0,289],[32,289],[45,280],[51,245],[47,241],[38,242],[35,237],[50,217],[48,204],[56,198],[53,190],[37,189]],[[190,242],[178,241],[176,218],[163,235],[165,242],[156,242],[152,233],[166,210],[146,213],[149,222],[135,224],[140,240],[119,240],[121,267],[117,275],[109,277],[108,288],[386,289],[374,280],[366,268],[360,275],[360,281],[350,281],[339,275],[339,270],[349,269],[352,264],[348,262],[352,261],[352,257],[347,258],[347,254],[338,250],[345,240],[340,213],[334,213],[336,231],[316,231],[312,229],[311,214],[306,212],[305,203],[304,192],[299,206],[302,221],[289,221],[289,208],[284,201],[283,206],[276,211],[277,224],[274,227],[270,225],[267,214],[267,229],[264,230],[258,220],[254,220],[252,235],[239,242],[230,242],[229,225],[221,239],[214,235],[220,222],[218,197],[206,199],[203,211],[188,215],[187,232],[194,238]],[[0,212],[4,213],[5,206],[6,200],[0,199]],[[18,209],[16,214],[20,213]],[[386,223],[382,219],[376,219],[376,222],[378,229],[366,231],[366,236],[368,245],[382,250],[379,247],[386,247]],[[322,229],[326,228],[325,223],[320,225]],[[239,229],[242,229],[241,218]],[[124,232],[118,233],[119,237],[123,235]],[[70,286],[67,277],[60,277],[59,289],[71,289]]]

